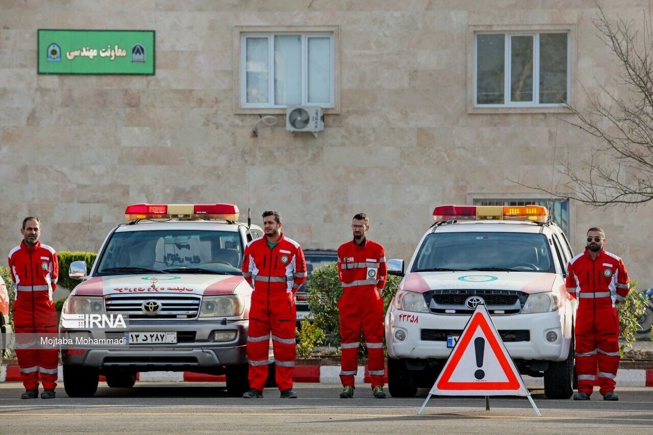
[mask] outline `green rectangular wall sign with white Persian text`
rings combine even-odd
[[[153,30],[39,29],[39,74],[154,74]]]

